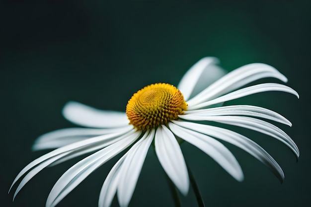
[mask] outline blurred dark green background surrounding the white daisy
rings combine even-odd
[[[32,152],[35,138],[74,127],[61,114],[67,101],[124,111],[134,92],[155,82],[177,85],[187,69],[206,56],[218,57],[228,71],[255,62],[272,65],[301,96],[267,92],[226,103],[263,106],[293,123],[292,128],[276,125],[299,146],[297,163],[290,149],[274,138],[223,125],[262,145],[283,168],[283,184],[231,144],[225,143],[243,169],[241,183],[196,147],[182,144],[206,206],[308,206],[310,9],[307,0],[0,2],[1,206],[45,206],[54,183],[77,162],[43,170],[13,203],[13,192],[7,195],[17,173],[48,151]],[[268,80],[279,82],[263,81]],[[96,207],[101,185],[117,158],[92,173],[58,207]],[[197,205],[191,188],[180,199],[184,207]],[[150,150],[130,207],[173,205],[164,172]],[[112,206],[118,206],[116,199]]]

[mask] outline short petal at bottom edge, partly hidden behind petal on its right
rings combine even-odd
[[[118,160],[118,162],[111,168],[110,172],[108,173],[99,193],[98,207],[110,207],[113,197],[117,192],[121,172],[120,169],[127,154],[128,152]]]

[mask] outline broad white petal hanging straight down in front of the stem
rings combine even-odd
[[[184,157],[176,138],[163,125],[156,130],[155,146],[156,155],[167,176],[183,195],[187,195],[189,176]]]

